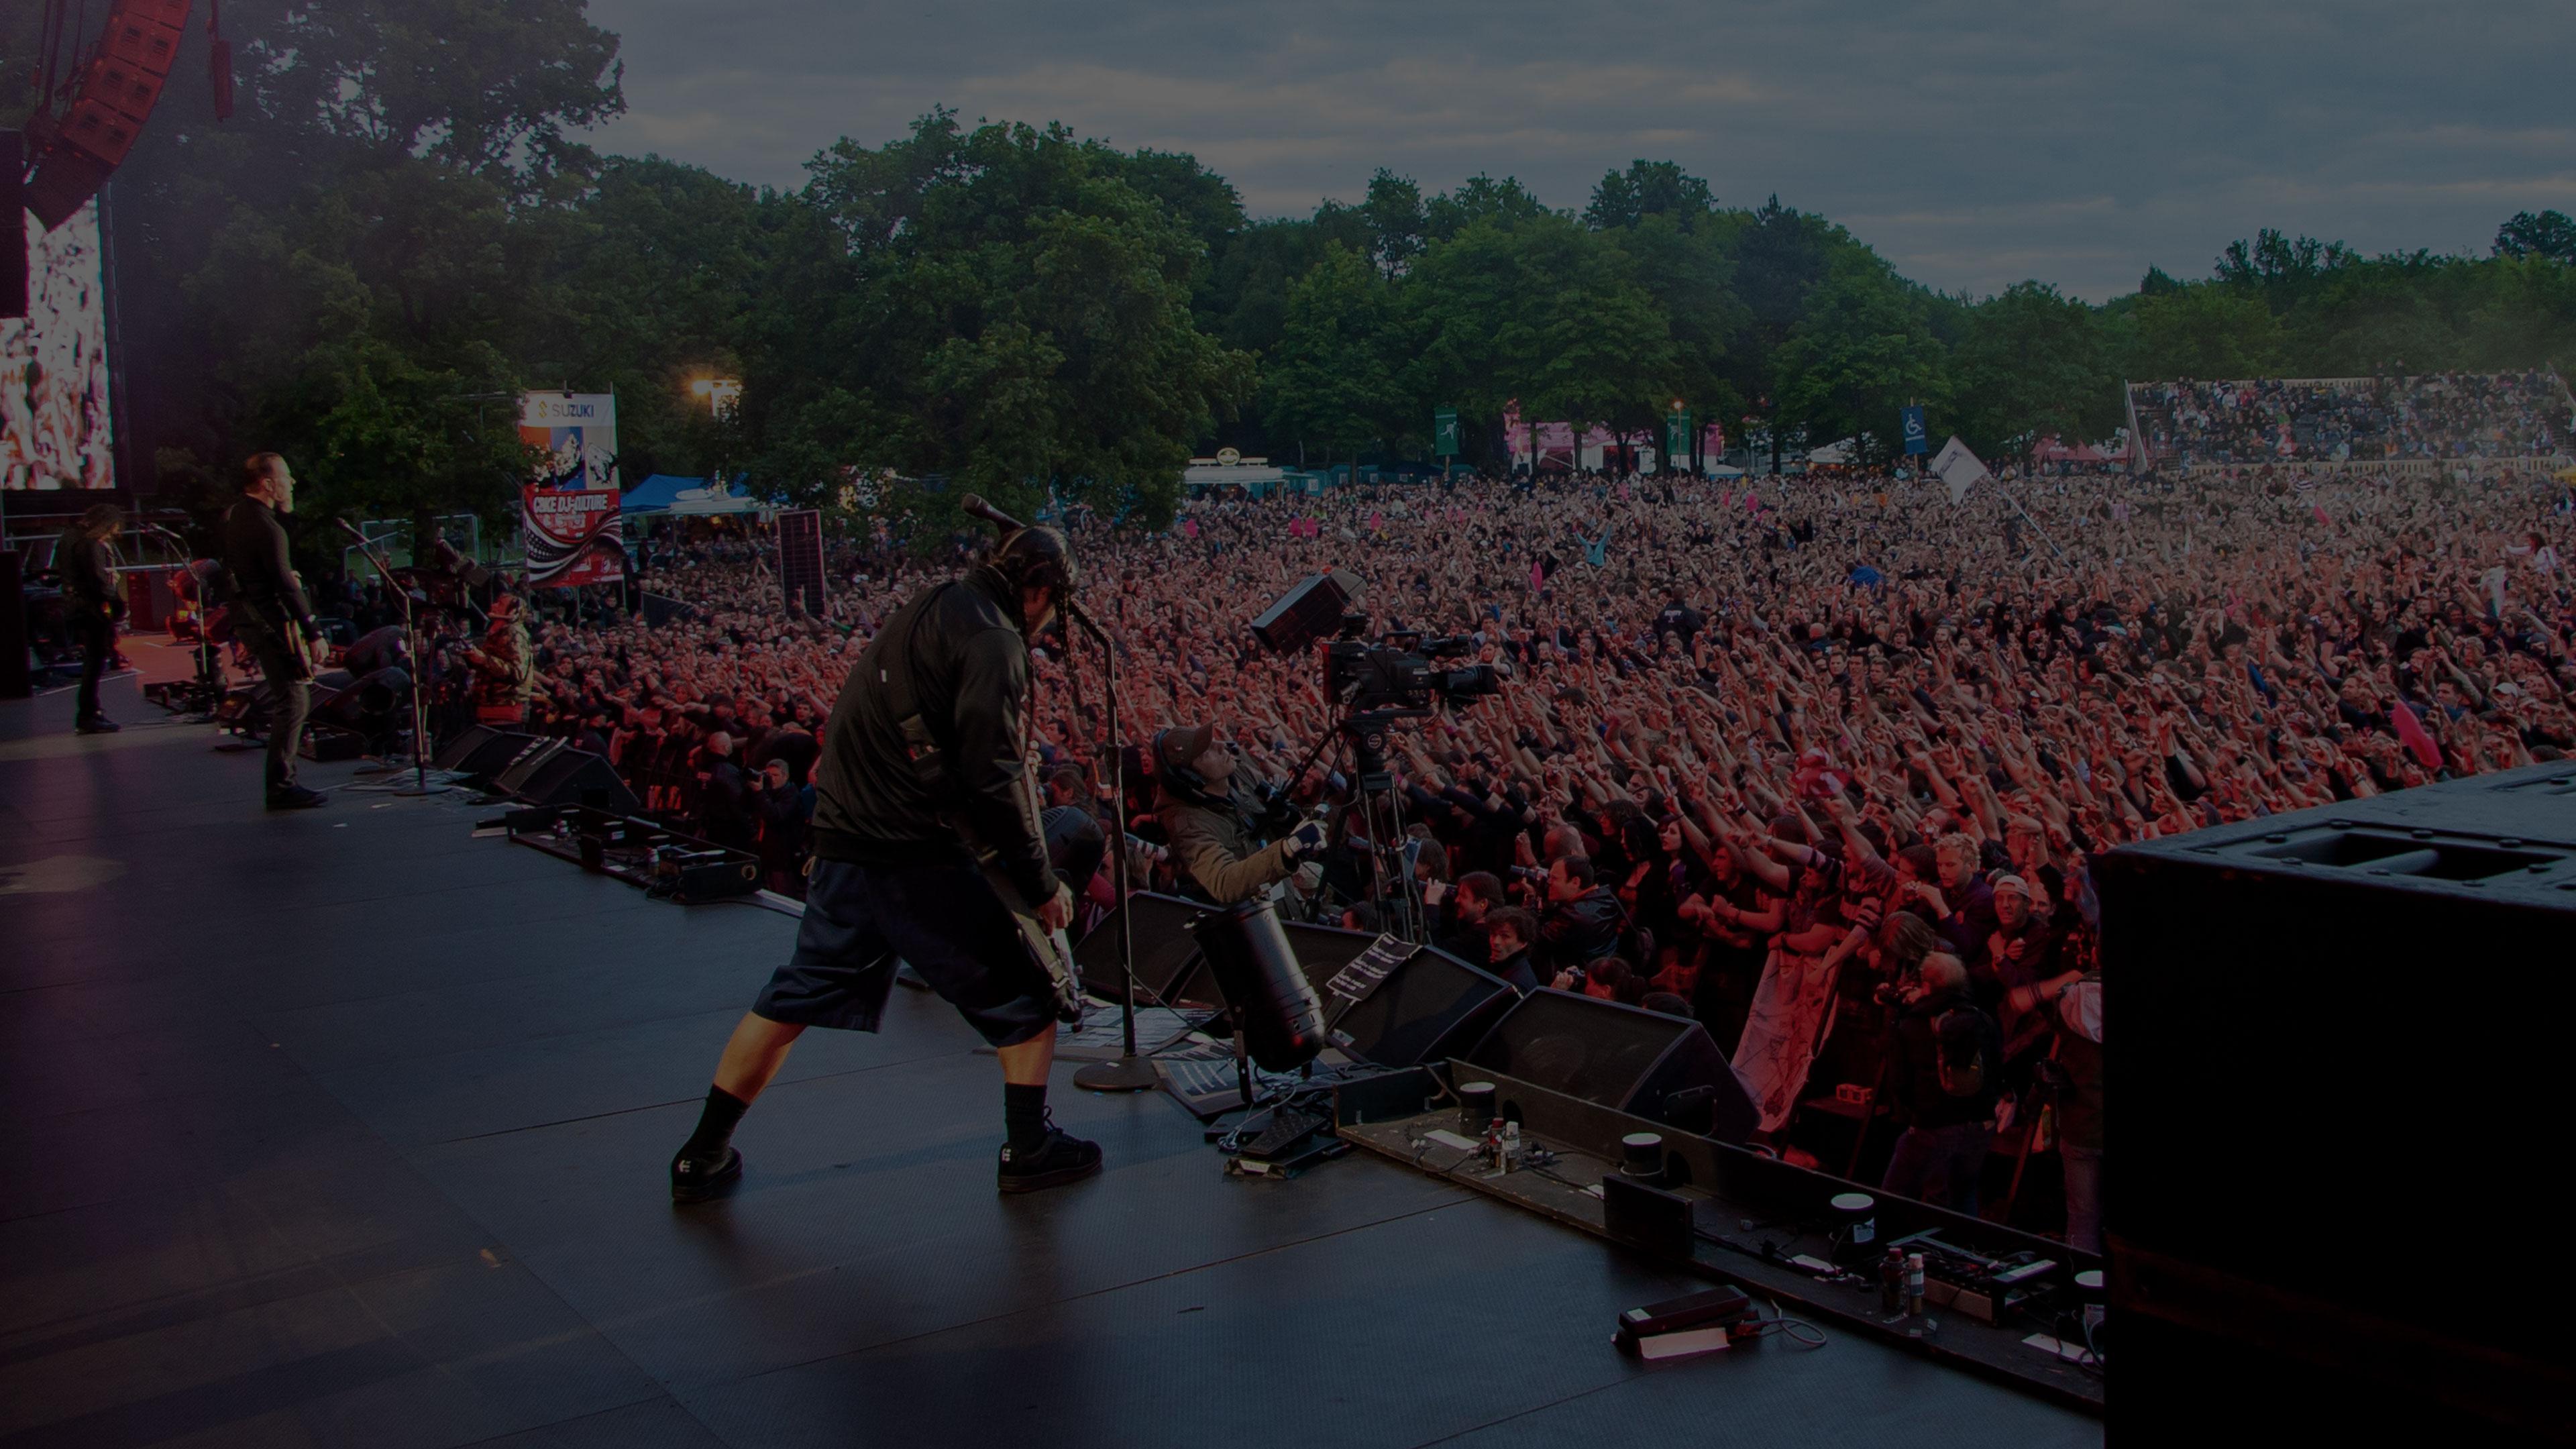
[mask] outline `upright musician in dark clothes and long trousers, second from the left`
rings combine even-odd
[[[296,784],[296,737],[312,712],[307,647],[322,639],[314,606],[286,557],[278,513],[296,511],[296,472],[278,454],[242,462],[242,498],[224,513],[232,637],[268,686],[268,810],[312,810],[330,797]]]

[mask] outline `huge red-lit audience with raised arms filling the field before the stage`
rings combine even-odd
[[[2563,482],[2512,467],[2102,472],[1960,503],[1880,474],[1584,474],[1195,503],[1154,534],[1077,518],[1128,797],[1105,799],[1097,660],[1069,681],[1061,642],[1033,755],[1051,804],[1115,812],[1144,846],[1136,884],[1185,890],[1151,848],[1141,745],[1213,724],[1247,773],[1285,776],[1337,704],[1319,657],[1247,624],[1345,570],[1373,629],[1463,637],[1502,681],[1396,735],[1414,884],[1450,949],[1700,1018],[1788,1155],[1839,1152],[1803,1104],[1875,1093],[1906,1127],[1896,1191],[1973,1209],[1989,1150],[2045,1114],[2089,1243],[2087,859],[2576,750],[2568,521]],[[819,619],[781,606],[762,554],[662,547],[659,624],[541,608],[526,696],[536,727],[793,890],[848,663],[974,544],[837,541]],[[1280,784],[1332,794],[1329,768]],[[1370,861],[1327,851],[1291,910],[1378,926]],[[1108,902],[1105,871],[1074,884]]]

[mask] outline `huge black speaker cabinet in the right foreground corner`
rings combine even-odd
[[[2576,763],[2094,861],[2115,1444],[2566,1441]]]

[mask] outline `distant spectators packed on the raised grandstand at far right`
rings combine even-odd
[[[2133,389],[2159,464],[2519,459],[2566,454],[2558,374],[2156,382]]]

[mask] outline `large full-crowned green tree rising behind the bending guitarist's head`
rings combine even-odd
[[[855,407],[871,431],[842,464],[1170,518],[1190,443],[1249,394],[1252,358],[1195,327],[1203,248],[1121,170],[1064,126],[961,131],[948,113],[817,157],[806,199],[842,255],[801,266],[845,271],[765,322],[778,433],[811,438],[814,410]],[[773,482],[822,495],[840,477]]]

